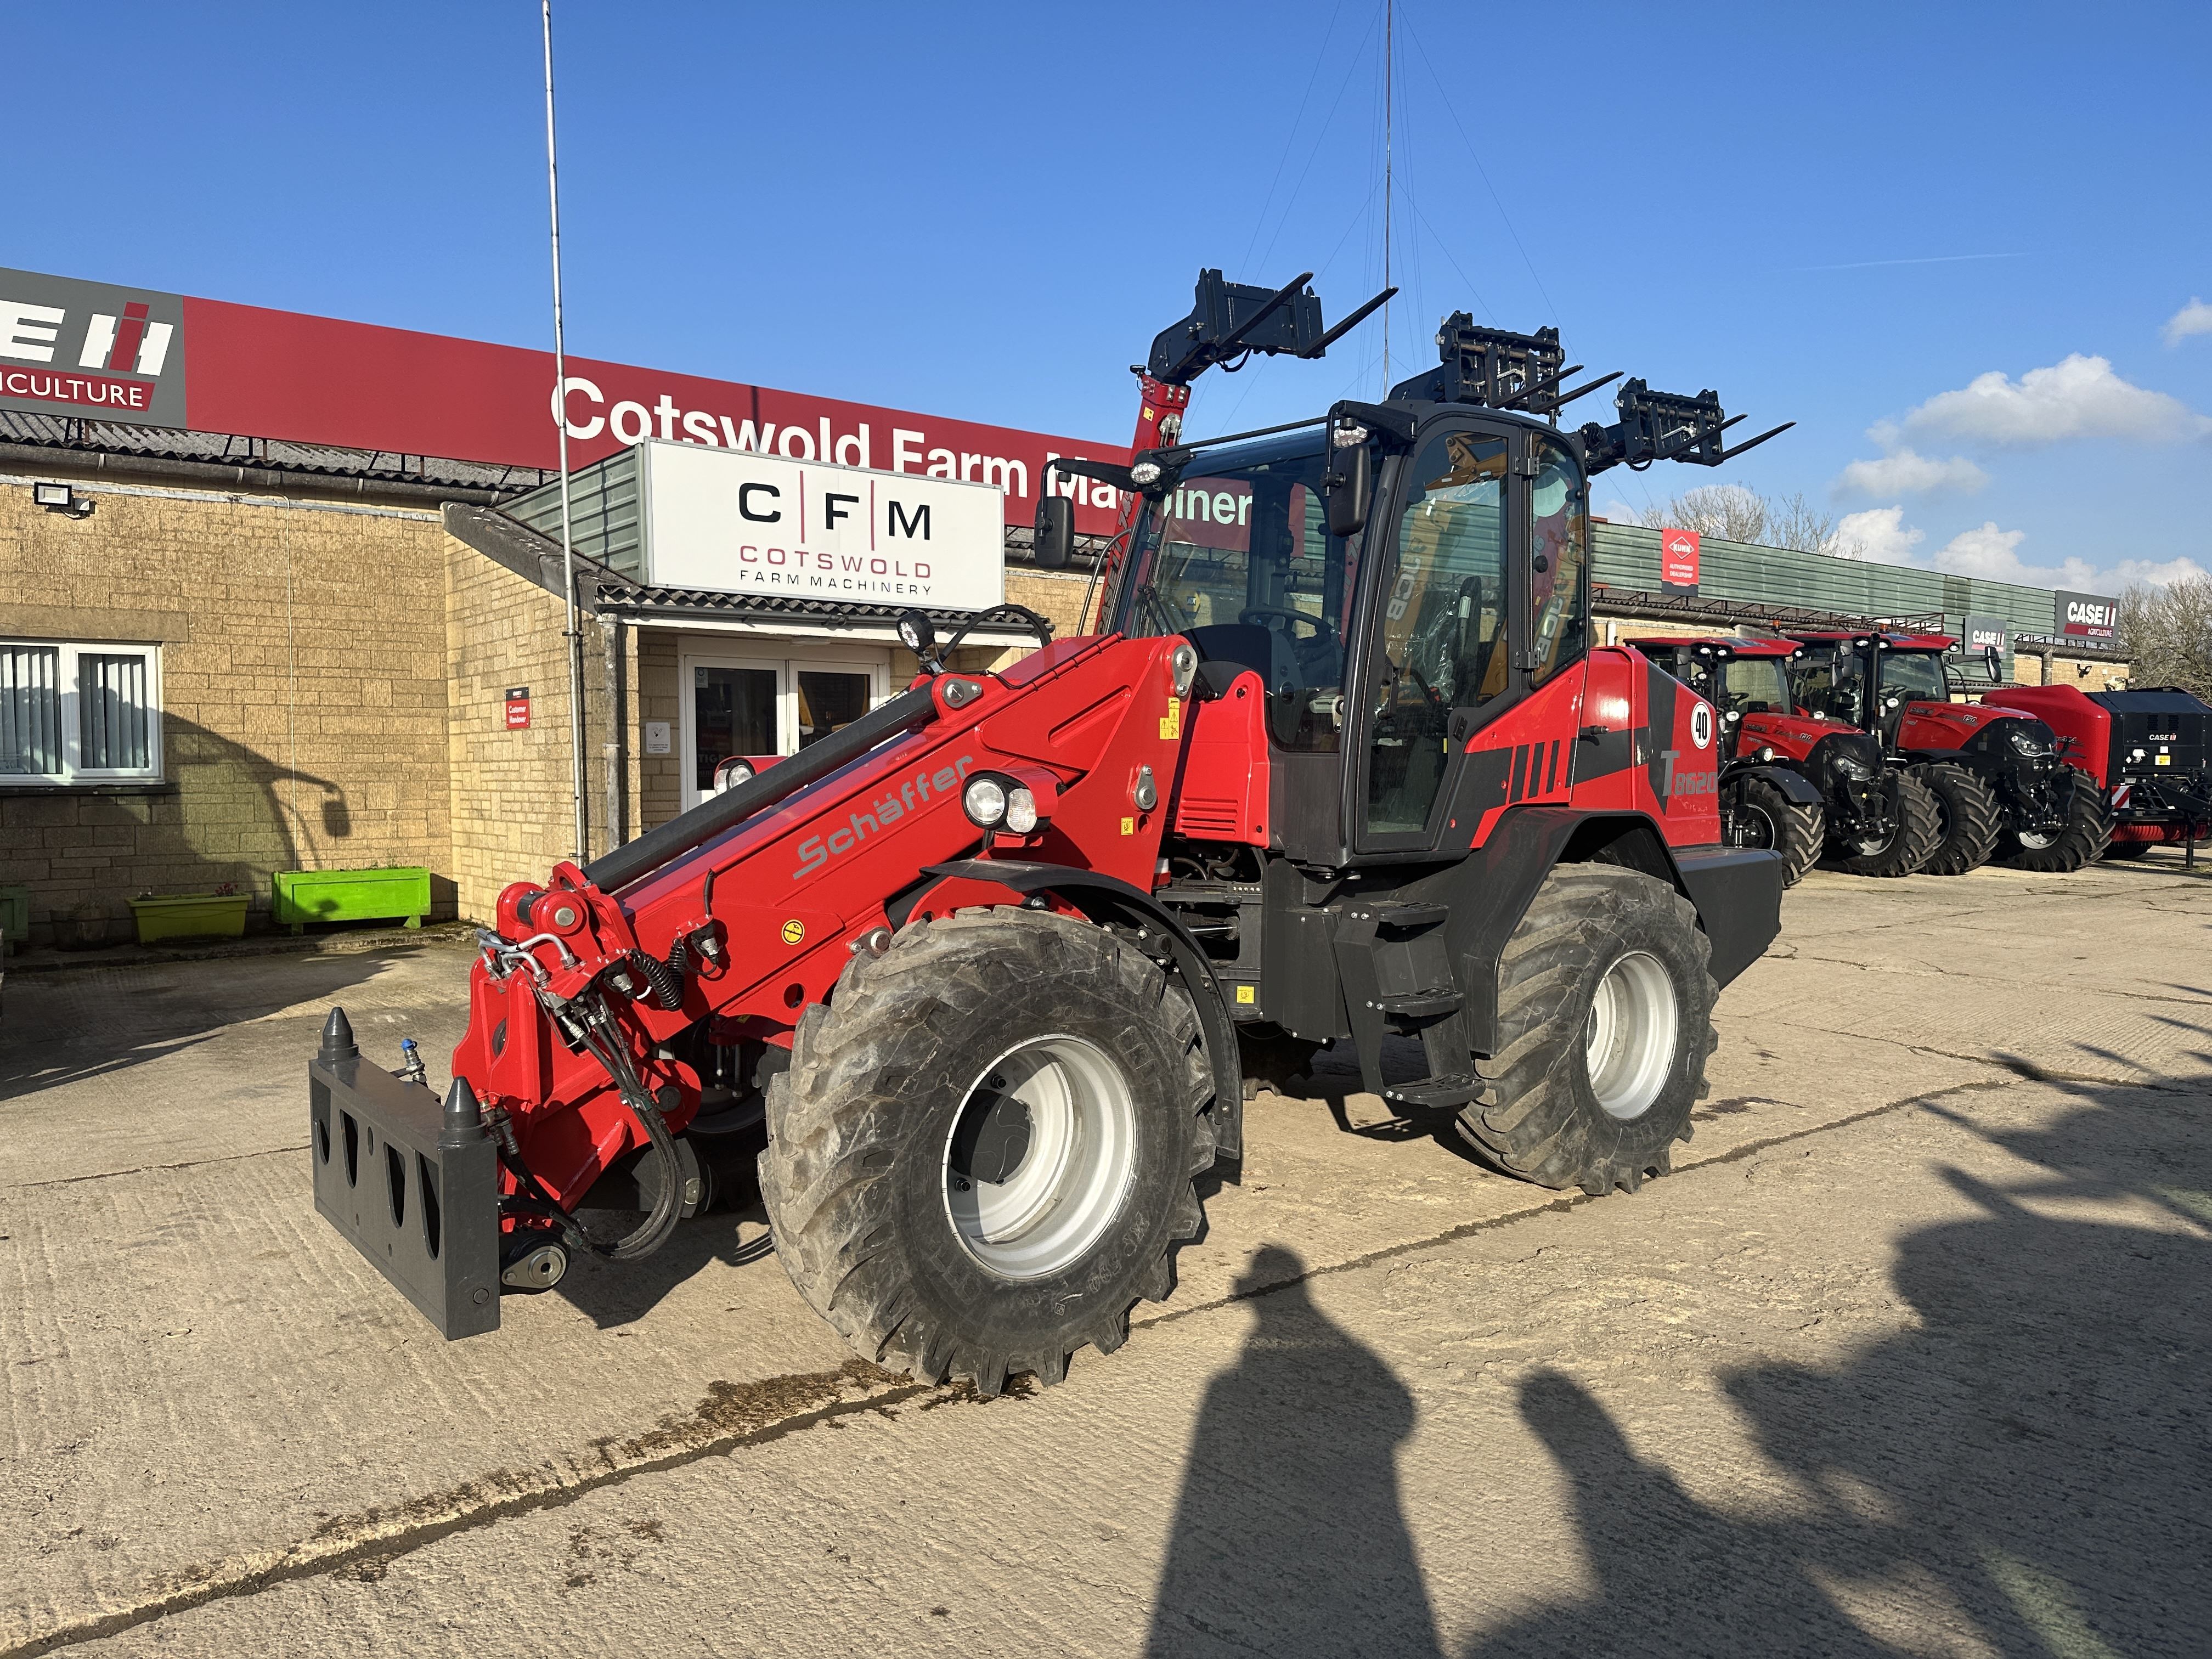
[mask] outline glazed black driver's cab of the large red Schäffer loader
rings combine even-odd
[[[1329,531],[1343,427],[1199,449],[1146,493],[1108,613],[1261,677],[1283,852],[1325,865],[1433,856],[1480,730],[1590,637],[1575,442],[1486,409],[1380,409],[1396,429],[1345,434],[1374,476],[1358,531]]]

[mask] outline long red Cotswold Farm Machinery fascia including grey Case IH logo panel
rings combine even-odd
[[[1035,515],[1053,456],[1128,460],[1119,445],[628,363],[568,358],[555,396],[551,352],[4,268],[0,409],[544,469],[560,409],[571,467],[646,438],[748,449],[995,484],[1009,524]],[[1115,529],[1110,484],[1055,473],[1051,489],[1075,500],[1075,529]]]

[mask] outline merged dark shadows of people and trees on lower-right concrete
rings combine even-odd
[[[1464,1659],[2203,1652],[2212,1117],[2201,1093],[2070,1093],[2042,1130],[1953,1115],[2039,1172],[1942,1172],[1973,1212],[1898,1243],[1907,1332],[1838,1369],[1723,1374],[1767,1464],[1741,1511],[1639,1453],[1575,1378],[1524,1374],[1517,1409],[1566,1480],[1595,1588],[1475,1635]],[[2081,1201],[2194,1225],[2053,1214]],[[1245,1283],[1294,1263],[1261,1252]],[[1252,1310],[1206,1398],[1148,1650],[1438,1652],[1398,1504],[1411,1394],[1303,1287]]]

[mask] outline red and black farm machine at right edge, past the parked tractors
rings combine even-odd
[[[2108,858],[2170,843],[2194,860],[2212,834],[2212,708],[2199,697],[2179,686],[2006,686],[1982,701],[2042,719],[2059,757],[2095,779],[2112,812]]]

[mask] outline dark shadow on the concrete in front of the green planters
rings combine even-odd
[[[9,975],[0,1102],[159,1060],[299,1002],[343,1002],[418,949]]]

